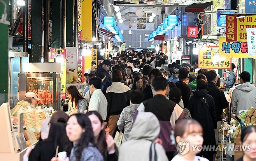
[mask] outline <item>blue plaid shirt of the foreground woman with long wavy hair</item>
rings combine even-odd
[[[78,161],[75,158],[75,149],[76,145],[72,148],[70,154],[70,161]],[[81,153],[80,161],[104,161],[102,154],[98,151],[96,147],[93,147],[92,144],[89,144],[88,147],[84,148]]]

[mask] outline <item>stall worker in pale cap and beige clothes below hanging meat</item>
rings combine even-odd
[[[23,110],[23,112],[25,112],[27,109],[37,109],[37,101],[39,100],[40,99],[37,97],[35,93],[27,92],[25,94],[25,99],[19,101],[17,105],[14,108],[12,108],[11,115],[16,116],[19,110]]]

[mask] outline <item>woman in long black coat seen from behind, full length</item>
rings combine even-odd
[[[203,79],[197,81],[197,89],[189,100],[189,112],[191,117],[200,122],[203,127],[203,146],[211,147],[210,151],[201,151],[198,156],[213,161],[213,154],[216,153],[213,147],[216,145],[214,129],[217,128],[216,108],[214,99],[208,94],[207,82]]]

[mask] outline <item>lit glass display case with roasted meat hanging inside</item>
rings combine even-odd
[[[19,73],[19,100],[25,98],[25,93],[34,92],[41,107],[60,110],[60,86],[60,73]]]

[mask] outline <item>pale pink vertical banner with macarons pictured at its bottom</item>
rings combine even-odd
[[[77,47],[66,47],[66,83],[77,83]]]

